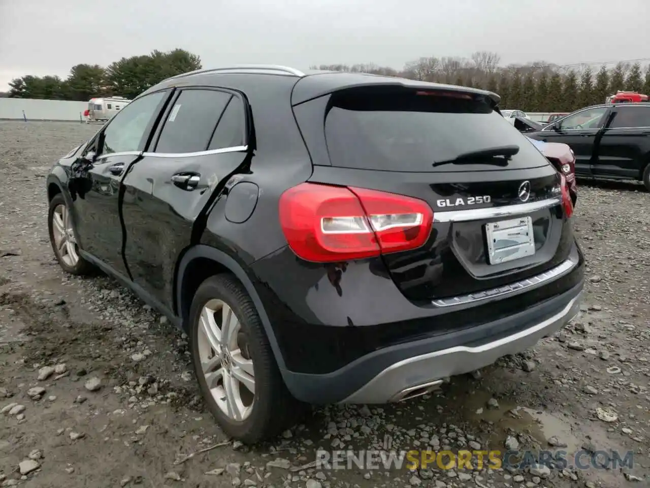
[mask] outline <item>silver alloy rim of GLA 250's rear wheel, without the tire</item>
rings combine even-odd
[[[245,420],[255,398],[253,360],[239,319],[222,300],[210,300],[201,310],[198,353],[205,383],[219,409],[231,420]]]

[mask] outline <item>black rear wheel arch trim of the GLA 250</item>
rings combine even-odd
[[[174,308],[181,321],[181,327],[184,331],[188,331],[189,310],[192,305],[194,292],[198,286],[206,278],[219,273],[232,273],[246,289],[259,314],[278,367],[283,373],[285,371],[285,362],[261,298],[243,267],[223,251],[207,245],[198,244],[190,247],[181,257],[177,266],[174,286]]]

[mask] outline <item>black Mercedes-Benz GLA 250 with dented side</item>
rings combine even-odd
[[[283,66],[178,75],[54,165],[52,246],[187,332],[233,438],[305,403],[413,398],[578,312],[564,177],[498,102]]]

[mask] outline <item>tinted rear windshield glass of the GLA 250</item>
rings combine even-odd
[[[325,137],[333,166],[388,171],[493,170],[497,159],[461,155],[503,146],[519,152],[502,169],[548,164],[482,95],[412,89],[348,90],[332,95]],[[438,163],[434,167],[434,163]],[[499,161],[497,161],[499,163]]]

